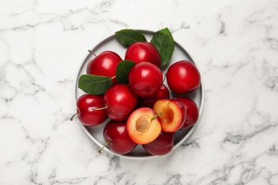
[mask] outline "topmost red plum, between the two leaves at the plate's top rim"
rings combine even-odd
[[[133,43],[125,52],[125,60],[135,63],[148,62],[160,68],[160,54],[153,44],[148,42]]]

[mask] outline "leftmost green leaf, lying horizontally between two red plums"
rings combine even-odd
[[[78,88],[91,95],[101,95],[112,85],[112,78],[101,75],[81,75],[78,80]]]

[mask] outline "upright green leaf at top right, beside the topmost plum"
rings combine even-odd
[[[169,29],[164,28],[160,31],[157,31],[150,43],[152,43],[155,48],[158,49],[161,58],[161,65],[167,65],[173,55],[175,48],[175,41]]]

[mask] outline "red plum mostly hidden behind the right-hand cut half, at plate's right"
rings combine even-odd
[[[176,100],[179,100],[183,103],[186,107],[187,111],[187,117],[185,120],[185,124],[180,129],[187,129],[188,127],[191,127],[192,125],[195,125],[199,118],[199,109],[196,105],[196,103],[190,98],[187,97],[176,97]]]

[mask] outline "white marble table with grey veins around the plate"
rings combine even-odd
[[[205,106],[172,153],[98,154],[76,121],[86,51],[123,28],[168,27]],[[278,184],[278,1],[0,1],[0,184]]]

